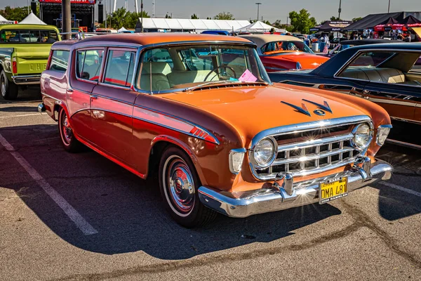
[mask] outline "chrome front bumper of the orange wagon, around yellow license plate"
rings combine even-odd
[[[273,185],[272,188],[262,188],[250,192],[241,192],[234,197],[230,192],[222,192],[201,186],[199,199],[210,209],[232,216],[245,218],[253,214],[262,214],[270,211],[280,211],[293,207],[319,202],[319,184],[332,178],[348,177],[348,192],[363,188],[378,181],[387,181],[392,176],[392,166],[382,160],[375,163],[363,163],[363,167],[356,167],[340,174],[330,175],[326,178],[317,178],[313,181],[295,183],[288,186]]]

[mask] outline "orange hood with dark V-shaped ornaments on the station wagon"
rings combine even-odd
[[[247,140],[243,140],[244,143],[248,143],[257,133],[278,126],[368,115],[368,112],[360,107],[340,98],[321,96],[312,93],[312,89],[298,90],[293,87],[289,88],[288,85],[220,87],[219,89],[169,93],[162,97],[199,107],[201,110],[224,119],[225,122],[232,124],[241,136],[246,136]],[[322,105],[326,101],[333,113],[326,112],[325,116],[316,115],[314,110],[319,108],[303,99]],[[305,103],[311,116],[281,103],[282,101],[299,107]],[[200,120],[191,121],[200,124]]]

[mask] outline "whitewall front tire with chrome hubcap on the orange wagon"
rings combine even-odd
[[[163,152],[159,163],[159,187],[166,209],[181,226],[192,228],[210,223],[217,213],[199,200],[201,183],[192,160],[179,148]]]

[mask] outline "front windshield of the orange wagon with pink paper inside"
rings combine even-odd
[[[269,77],[254,48],[174,46],[142,53],[138,88],[151,93],[215,83],[264,82]]]

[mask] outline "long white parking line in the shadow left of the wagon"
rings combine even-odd
[[[34,168],[32,168],[32,166],[27,162],[27,160],[25,160],[25,158],[22,157],[22,155],[20,155],[19,152],[15,151],[13,146],[10,143],[8,143],[8,141],[6,141],[6,138],[1,136],[1,134],[0,143],[4,146],[4,148],[6,148],[6,150],[11,152],[11,155],[13,155],[16,161],[19,162],[20,166],[22,166],[23,169],[27,171],[29,176],[31,176],[34,179],[34,181],[36,181],[36,183],[38,183],[38,185],[42,189],[44,189],[44,191],[51,197],[51,199],[54,200],[54,202],[58,204],[58,206],[63,211],[65,211],[65,214],[69,216],[69,218],[74,222],[74,224],[76,224],[76,226],[82,231],[84,235],[93,235],[95,233],[98,233],[98,231],[95,230],[95,228],[93,228],[91,224],[89,224],[81,216],[81,214],[79,214],[76,211],[76,209],[74,209],[72,205],[70,205],[69,202],[65,200],[65,198],[63,198],[57,191],[55,191],[55,189],[52,188],[51,185],[48,184],[47,181],[40,174],[38,174],[38,172],[35,171]]]

